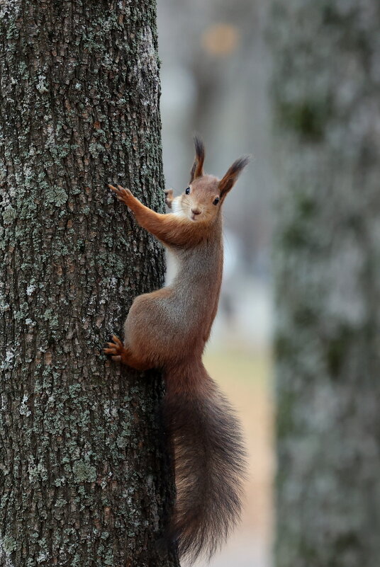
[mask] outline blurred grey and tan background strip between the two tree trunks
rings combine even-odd
[[[223,287],[205,360],[242,418],[250,475],[242,525],[212,567],[271,565],[274,181],[265,20],[262,0],[158,2],[167,188],[179,194],[187,186],[194,132],[206,145],[206,172],[220,178],[236,158],[252,154],[224,205]]]

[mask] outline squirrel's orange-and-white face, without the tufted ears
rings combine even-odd
[[[179,197],[172,201],[174,214],[187,217],[193,222],[213,222],[220,212],[219,180],[203,175],[189,184]]]

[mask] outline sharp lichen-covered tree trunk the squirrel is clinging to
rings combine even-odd
[[[155,1],[0,10],[0,565],[177,566],[160,376],[101,353],[164,276],[106,188],[162,210]]]

